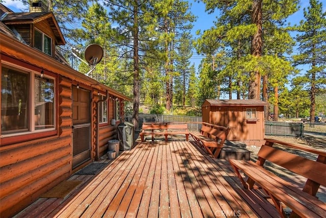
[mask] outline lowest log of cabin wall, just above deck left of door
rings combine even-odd
[[[17,213],[19,210],[34,202],[42,193],[59,182],[63,181],[70,175],[71,166],[66,165],[58,168],[57,171],[46,177],[28,185],[21,187],[19,190],[0,200],[0,214],[3,217],[9,217]],[[44,187],[45,184],[50,184]]]

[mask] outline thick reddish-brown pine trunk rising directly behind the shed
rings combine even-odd
[[[257,32],[251,42],[251,54],[259,58],[262,51],[262,0],[254,0],[252,10],[252,22],[256,25]],[[255,69],[250,73],[249,99],[260,99],[260,79],[259,70]]]

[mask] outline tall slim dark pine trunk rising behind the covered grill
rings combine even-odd
[[[138,0],[133,6],[133,112],[132,123],[138,127],[139,122],[139,57],[138,57]]]

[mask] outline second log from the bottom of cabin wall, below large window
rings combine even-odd
[[[2,183],[0,186],[1,196],[11,195],[12,192],[18,190],[20,187],[30,185],[42,177],[46,177],[52,171],[56,171],[58,168],[64,167],[66,164],[70,165],[70,161],[71,155],[67,155]]]

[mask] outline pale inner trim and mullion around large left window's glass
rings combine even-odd
[[[25,132],[19,132],[19,133],[9,133],[9,134],[2,134],[1,133],[1,138],[5,138],[5,137],[12,137],[12,136],[20,136],[20,135],[28,135],[28,134],[33,134],[33,133],[40,133],[40,132],[49,132],[49,131],[53,131],[53,130],[56,130],[57,129],[57,119],[56,119],[56,114],[57,114],[57,107],[56,107],[56,104],[57,104],[57,95],[56,95],[56,78],[55,77],[50,77],[50,76],[43,76],[43,78],[48,78],[48,79],[52,79],[54,81],[54,90],[55,90],[55,98],[53,100],[53,104],[54,104],[54,108],[53,108],[53,114],[54,114],[54,127],[53,128],[48,128],[48,129],[41,129],[41,130],[35,130],[35,113],[34,113],[34,107],[35,107],[35,92],[32,91],[32,89],[34,90],[34,81],[35,81],[35,76],[41,76],[41,73],[40,72],[37,72],[37,71],[34,71],[34,70],[31,70],[29,68],[25,68],[25,67],[22,67],[22,66],[19,66],[19,65],[15,65],[13,63],[10,63],[10,62],[6,62],[6,61],[3,61],[2,62],[2,66],[3,65],[6,65],[8,66],[9,68],[12,67],[12,68],[16,68],[17,70],[21,70],[21,71],[24,71],[24,72],[28,72],[30,74],[30,90],[29,90],[29,95],[30,95],[30,101],[29,101],[29,108],[30,108],[30,113],[29,113],[29,119],[30,119],[30,123],[29,123],[29,127],[28,127],[28,131],[25,131]],[[1,67],[2,67],[1,66]],[[33,88],[32,88],[33,87]],[[32,122],[33,120],[33,122]]]

